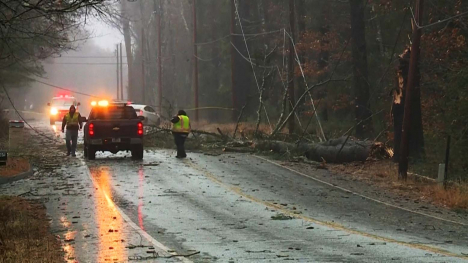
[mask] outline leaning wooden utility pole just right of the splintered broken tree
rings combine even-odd
[[[411,100],[414,92],[415,80],[420,55],[421,29],[424,0],[416,0],[416,17],[413,20],[413,37],[411,45],[410,66],[408,72],[408,84],[405,92],[405,111],[403,115],[403,130],[401,135],[401,156],[398,166],[398,178],[406,181],[408,178],[408,156],[409,156],[409,132],[411,126]]]

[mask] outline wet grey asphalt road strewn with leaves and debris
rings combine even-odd
[[[253,155],[174,156],[68,162],[57,153],[56,167],[0,192],[45,202],[69,262],[466,260],[467,222],[387,206]]]

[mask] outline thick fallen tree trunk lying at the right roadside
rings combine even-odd
[[[291,155],[305,156],[309,160],[328,163],[356,162],[391,157],[391,152],[381,142],[359,141],[348,137],[316,144],[258,141],[255,143],[255,149],[280,154],[290,153]]]

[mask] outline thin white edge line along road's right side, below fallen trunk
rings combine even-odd
[[[334,185],[334,184],[331,184],[331,183],[328,183],[328,182],[325,182],[325,181],[322,181],[318,178],[315,178],[313,176],[310,176],[308,174],[305,174],[305,173],[302,173],[302,172],[299,172],[299,171],[296,171],[292,168],[289,168],[289,167],[286,167],[286,166],[283,166],[279,163],[276,163],[274,161],[271,161],[271,160],[268,160],[264,157],[261,157],[261,156],[258,156],[258,155],[253,155],[254,157],[260,159],[260,160],[263,160],[265,162],[268,162],[268,163],[271,163],[273,165],[276,165],[278,167],[282,167],[283,169],[286,169],[290,172],[293,172],[293,173],[296,173],[296,174],[299,174],[299,175],[302,175],[304,177],[307,177],[309,179],[312,179],[314,181],[317,181],[319,183],[322,183],[322,184],[325,184],[325,185],[328,185],[328,186],[331,186],[333,188],[337,188],[337,189],[340,189],[344,192],[347,192],[347,193],[351,193],[353,195],[356,195],[356,196],[359,196],[359,197],[362,197],[362,198],[365,198],[365,199],[368,199],[368,200],[371,200],[371,201],[374,201],[376,203],[379,203],[379,204],[383,204],[383,205],[386,205],[386,206],[389,206],[389,207],[393,207],[393,208],[397,208],[397,209],[400,209],[400,210],[403,210],[403,211],[406,211],[406,212],[410,212],[410,213],[413,213],[413,214],[418,214],[418,215],[422,215],[422,216],[426,216],[426,217],[430,217],[430,218],[433,218],[433,219],[437,219],[437,220],[441,220],[441,221],[445,221],[445,222],[449,222],[449,223],[453,223],[453,224],[457,224],[457,225],[462,225],[462,226],[468,226],[468,224],[465,224],[465,223],[462,223],[462,222],[457,222],[457,221],[452,221],[452,220],[449,220],[449,219],[445,219],[445,218],[441,218],[441,217],[437,217],[437,216],[433,216],[433,215],[429,215],[429,214],[425,214],[425,213],[421,213],[421,212],[417,212],[417,211],[413,211],[413,210],[410,210],[410,209],[407,209],[407,208],[404,208],[404,207],[399,207],[399,206],[396,206],[396,205],[392,205],[390,203],[387,203],[387,202],[384,202],[384,201],[380,201],[380,200],[377,200],[377,199],[374,199],[372,197],[368,197],[368,196],[365,196],[365,195],[362,195],[362,194],[358,194],[356,192],[353,192],[351,190],[348,190],[346,188],[343,188],[343,187],[340,187],[340,186],[337,186],[337,185]]]

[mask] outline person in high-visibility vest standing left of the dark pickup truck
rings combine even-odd
[[[67,127],[67,133],[65,134],[65,141],[67,144],[67,156],[70,154],[75,157],[76,143],[78,141],[78,130],[83,128],[83,122],[81,121],[81,115],[76,111],[75,106],[71,105],[67,115],[62,120],[62,133]],[[71,143],[70,143],[71,141]]]

